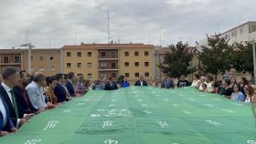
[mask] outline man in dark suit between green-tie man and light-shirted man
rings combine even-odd
[[[16,95],[16,102],[18,103],[18,113],[19,115],[22,114],[34,114],[39,113],[40,110],[37,108],[34,108],[30,99],[28,98],[27,90],[26,90],[26,74],[24,72],[19,72],[19,80],[16,84],[16,87],[14,87],[14,92]],[[21,116],[20,116],[21,117]]]

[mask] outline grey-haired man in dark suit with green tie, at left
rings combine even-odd
[[[8,107],[10,118],[12,119],[16,128],[18,128],[26,123],[27,119],[30,117],[27,114],[19,117],[18,104],[16,103],[16,96],[14,90],[12,89],[16,86],[19,73],[15,67],[5,67],[2,72],[2,77],[3,82],[0,85],[0,94],[3,96],[6,106]]]

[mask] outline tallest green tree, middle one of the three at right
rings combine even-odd
[[[205,73],[224,74],[231,68],[232,47],[228,44],[227,37],[208,36],[208,46],[201,46],[202,49],[198,58],[202,64],[201,68]]]

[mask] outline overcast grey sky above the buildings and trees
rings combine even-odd
[[[193,46],[207,34],[256,21],[255,5],[256,0],[0,0],[0,48],[108,43],[108,11],[114,42]]]

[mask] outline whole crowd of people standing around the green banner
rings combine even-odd
[[[192,87],[208,93],[219,93],[225,98],[252,102],[255,92],[245,77],[238,83],[235,77],[226,77],[214,81],[211,75],[199,77],[195,75]],[[74,72],[69,74],[59,73],[46,77],[42,72],[32,76],[25,71],[18,71],[15,67],[5,67],[0,76],[0,137],[15,133],[30,118],[45,110],[50,110],[59,105],[85,95],[89,90],[115,90],[130,87],[128,77],[121,77],[118,82],[112,77],[93,81],[86,80],[82,75]],[[152,77],[147,82],[140,76],[133,86],[161,87],[172,89],[175,87],[190,86],[185,76],[181,76],[175,84],[174,79],[165,75],[160,82]]]

